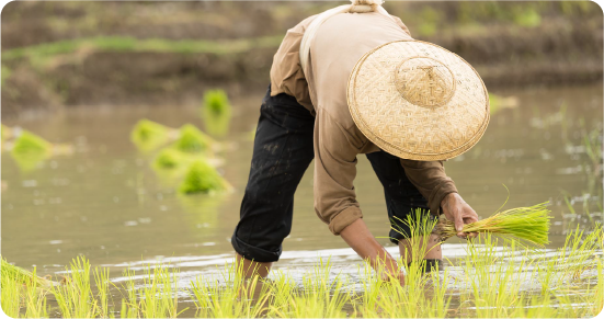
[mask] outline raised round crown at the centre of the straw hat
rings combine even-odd
[[[395,84],[410,103],[436,109],[445,105],[455,93],[455,77],[451,69],[430,57],[404,59],[395,69]]]

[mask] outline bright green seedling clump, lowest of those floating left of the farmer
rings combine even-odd
[[[189,168],[179,191],[183,194],[214,193],[230,190],[229,183],[205,160],[196,160]]]

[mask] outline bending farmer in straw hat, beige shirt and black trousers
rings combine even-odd
[[[366,155],[384,186],[389,237],[408,261],[401,220],[412,210],[444,214],[459,237],[464,224],[478,220],[442,160],[468,150],[487,127],[480,77],[456,55],[413,41],[381,0],[352,2],[304,20],[274,56],[231,239],[247,276],[266,276],[278,261],[294,193],[312,159],[316,214],[383,275],[402,282],[397,261],[363,221],[353,185],[357,155]],[[438,238],[422,240],[428,251],[419,258],[441,263]]]

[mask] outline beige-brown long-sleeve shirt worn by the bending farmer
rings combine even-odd
[[[334,235],[362,218],[354,179],[356,156],[379,151],[356,127],[349,111],[349,77],[367,52],[386,43],[412,39],[398,18],[373,13],[341,13],[327,20],[310,44],[308,71],[301,70],[299,48],[310,16],[290,29],[271,69],[271,94],[286,93],[316,115],[315,210]],[[440,212],[443,198],[456,193],[441,161],[401,159],[409,180]]]

